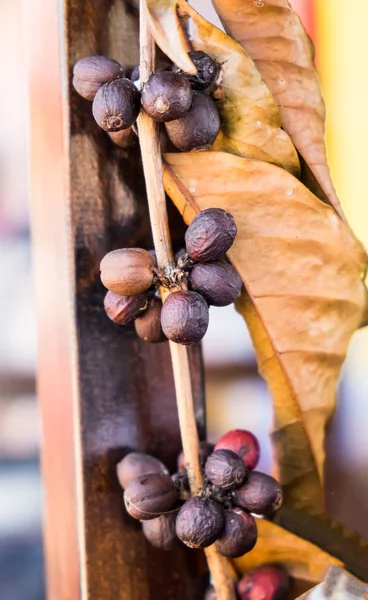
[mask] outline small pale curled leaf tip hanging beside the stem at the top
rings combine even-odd
[[[146,0],[146,6],[156,44],[183,71],[196,73],[188,56],[191,47],[178,16],[177,0]]]

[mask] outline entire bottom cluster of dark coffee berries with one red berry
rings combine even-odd
[[[257,540],[256,515],[270,515],[281,504],[278,482],[253,471],[259,444],[249,431],[229,431],[215,446],[202,442],[200,464],[205,484],[191,497],[183,454],[171,476],[161,461],[133,452],[118,465],[128,513],[142,521],[146,538],[170,549],[179,538],[190,548],[216,542],[218,552],[236,558]]]

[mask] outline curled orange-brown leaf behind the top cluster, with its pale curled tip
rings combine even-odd
[[[232,152],[247,158],[265,160],[282,165],[299,175],[297,152],[285,131],[268,87],[262,80],[250,56],[243,48],[206,21],[186,2],[147,0],[153,35],[160,48],[176,62],[182,61],[187,49],[181,49],[179,34],[183,34],[177,16],[189,18],[191,46],[203,50],[222,65],[222,101],[218,103],[221,113],[222,132],[213,149]]]

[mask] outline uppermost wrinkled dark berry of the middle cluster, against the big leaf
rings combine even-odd
[[[230,213],[221,208],[207,208],[198,213],[185,233],[185,245],[191,258],[212,262],[222,258],[232,246],[236,225]]]

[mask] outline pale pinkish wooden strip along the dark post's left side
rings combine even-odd
[[[30,171],[38,313],[48,598],[80,597],[74,461],[72,274],[56,6],[23,3],[30,94]]]

